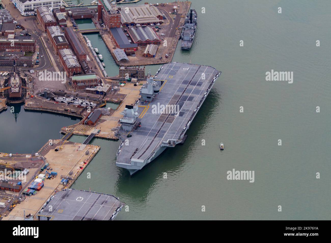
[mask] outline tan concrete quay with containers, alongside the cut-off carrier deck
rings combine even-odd
[[[40,211],[46,200],[54,194],[54,192],[70,187],[72,182],[82,173],[83,169],[92,160],[95,154],[99,151],[99,146],[87,145],[83,150],[78,150],[80,143],[64,142],[63,140],[54,140],[54,145],[48,145],[48,142],[38,151],[43,154],[46,162],[52,167],[53,172],[58,175],[54,179],[45,179],[44,187],[36,193],[36,195],[27,196],[25,200],[17,204],[16,207],[2,220],[23,220],[25,214],[35,215]],[[55,148],[60,148],[55,151]],[[35,162],[31,162],[35,163]],[[34,174],[27,174],[27,180]],[[61,184],[62,177],[71,177],[68,185]]]

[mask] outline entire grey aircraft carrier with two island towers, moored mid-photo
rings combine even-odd
[[[141,170],[184,135],[221,74],[211,66],[171,62],[140,89],[135,105],[126,105],[118,122],[122,140],[116,165],[130,174]]]

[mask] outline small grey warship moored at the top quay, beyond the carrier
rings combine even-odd
[[[182,50],[190,50],[197,28],[197,12],[194,9],[190,9],[182,28],[180,46]]]

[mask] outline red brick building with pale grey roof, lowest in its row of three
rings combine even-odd
[[[59,58],[63,69],[67,72],[68,77],[82,72],[77,57],[73,55],[71,49],[59,50]]]

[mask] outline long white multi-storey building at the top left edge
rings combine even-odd
[[[37,7],[48,7],[59,9],[62,6],[62,0],[13,0],[14,6],[21,12],[21,15],[34,15]]]

